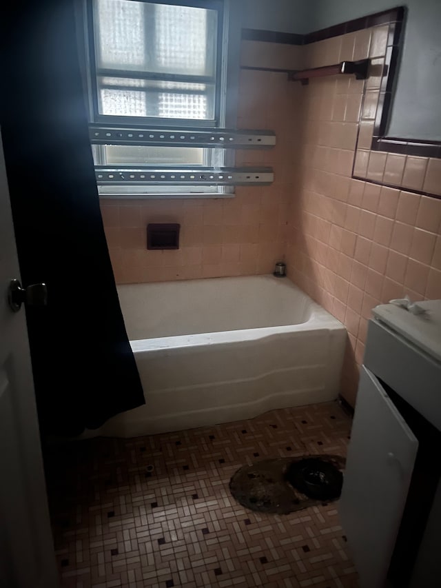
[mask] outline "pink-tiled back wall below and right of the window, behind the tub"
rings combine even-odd
[[[244,65],[296,65],[300,48],[243,41]],[[264,65],[265,66],[265,65]],[[292,192],[287,121],[296,88],[286,74],[242,70],[238,128],[269,129],[275,148],[239,151],[236,165],[270,165],[270,186],[237,187],[234,199],[101,200],[117,283],[269,274],[284,258]],[[147,251],[147,223],[181,223],[179,250]]]

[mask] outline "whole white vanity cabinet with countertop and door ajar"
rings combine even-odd
[[[339,502],[361,588],[441,586],[441,301],[369,321]]]

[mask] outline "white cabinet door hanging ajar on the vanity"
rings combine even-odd
[[[418,440],[378,379],[362,366],[339,503],[361,588],[383,588]]]

